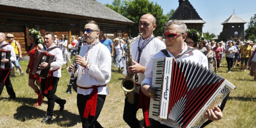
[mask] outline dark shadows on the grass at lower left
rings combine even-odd
[[[30,119],[42,119],[44,115],[45,111],[43,110],[28,105],[22,105],[17,108],[16,113],[13,116],[15,119],[25,122]],[[61,127],[72,127],[81,122],[79,115],[66,110],[62,112],[54,111],[54,116],[56,116],[56,118],[50,120],[47,124],[58,124]]]

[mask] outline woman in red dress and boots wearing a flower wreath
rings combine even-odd
[[[37,102],[35,102],[34,106],[38,106],[43,103],[43,95],[42,95],[40,81],[39,81],[39,74],[33,75],[32,70],[30,69],[33,67],[32,65],[33,61],[35,61],[34,55],[35,55],[36,49],[41,50],[43,48],[43,45],[41,44],[43,43],[43,40],[44,39],[39,31],[35,30],[34,28],[29,30],[29,42],[28,42],[28,44],[30,44],[28,49],[29,63],[27,66],[28,68],[26,70],[26,73],[29,74],[28,85],[31,88],[33,88],[35,93],[37,93],[38,95]],[[35,81],[36,81],[36,84],[35,84]]]

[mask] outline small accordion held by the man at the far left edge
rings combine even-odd
[[[7,70],[10,69],[10,58],[11,58],[11,51],[10,50],[0,50],[0,64],[1,64],[1,68],[0,70]],[[2,63],[1,60],[2,59],[9,59],[8,63]]]

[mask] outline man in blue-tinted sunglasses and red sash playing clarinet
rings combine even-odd
[[[109,94],[106,84],[111,79],[111,55],[99,41],[98,23],[89,21],[83,33],[87,44],[81,47],[80,54],[74,59],[77,65],[77,108],[83,128],[101,128],[97,118]],[[73,69],[74,65],[70,65],[69,72]]]

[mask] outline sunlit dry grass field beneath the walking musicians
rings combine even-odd
[[[20,62],[25,73],[28,61]],[[23,77],[16,73],[16,77],[11,78],[16,99],[13,101],[3,101],[8,98],[6,88],[0,97],[0,128],[59,128],[59,127],[82,127],[79,113],[76,106],[76,93],[66,94],[70,76],[62,67],[62,77],[58,83],[56,95],[66,99],[65,109],[59,112],[59,105],[55,104],[54,118],[48,124],[42,124],[41,120],[46,113],[47,98],[41,106],[33,106],[37,95],[28,86],[28,74]],[[120,83],[124,77],[118,73],[116,68],[112,68],[112,79],[107,85],[110,95],[106,97],[104,107],[98,118],[98,122],[105,128],[128,128],[123,121],[124,91],[120,88]],[[227,73],[226,60],[223,59],[219,75],[236,86],[231,91],[229,99],[223,111],[223,119],[214,121],[207,128],[253,128],[256,127],[256,82],[249,75],[249,71],[241,72],[239,67],[234,67],[231,73]],[[137,113],[139,120],[143,119],[142,111]],[[143,123],[143,121],[141,121]]]

